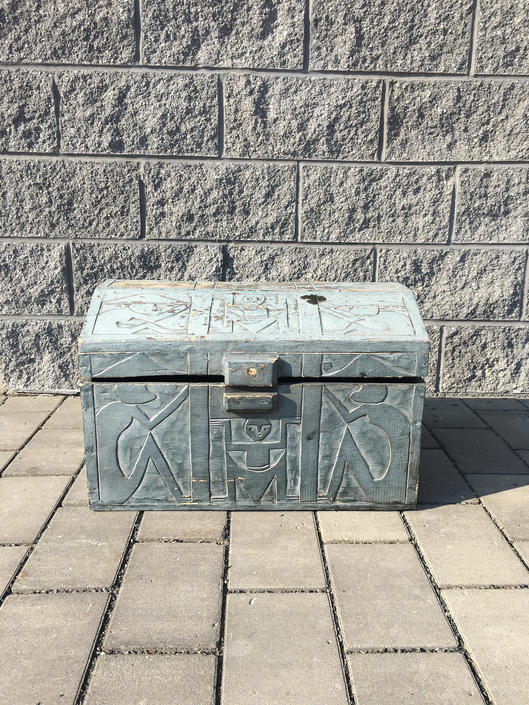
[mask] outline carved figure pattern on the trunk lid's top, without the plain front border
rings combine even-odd
[[[95,316],[93,335],[131,337],[246,336],[318,339],[329,335],[388,337],[413,335],[410,311],[394,291],[357,292],[344,304],[341,292],[303,294],[303,290],[245,291],[164,290],[134,292],[106,289]],[[345,301],[347,301],[345,297]]]

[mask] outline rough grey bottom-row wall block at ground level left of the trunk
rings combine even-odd
[[[78,391],[81,325],[42,319],[0,321],[0,379],[18,392]]]

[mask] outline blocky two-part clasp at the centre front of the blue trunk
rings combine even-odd
[[[226,411],[273,411],[277,392],[263,390],[263,387],[277,385],[277,367],[277,355],[225,355],[222,368],[227,385],[224,390]]]

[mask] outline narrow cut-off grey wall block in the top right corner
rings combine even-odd
[[[529,73],[529,16],[524,2],[483,0],[479,9],[476,70],[479,73]]]

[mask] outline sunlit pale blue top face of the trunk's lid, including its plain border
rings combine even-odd
[[[429,350],[415,299],[397,284],[264,284],[258,290],[180,284],[109,281],[97,287],[80,351]]]

